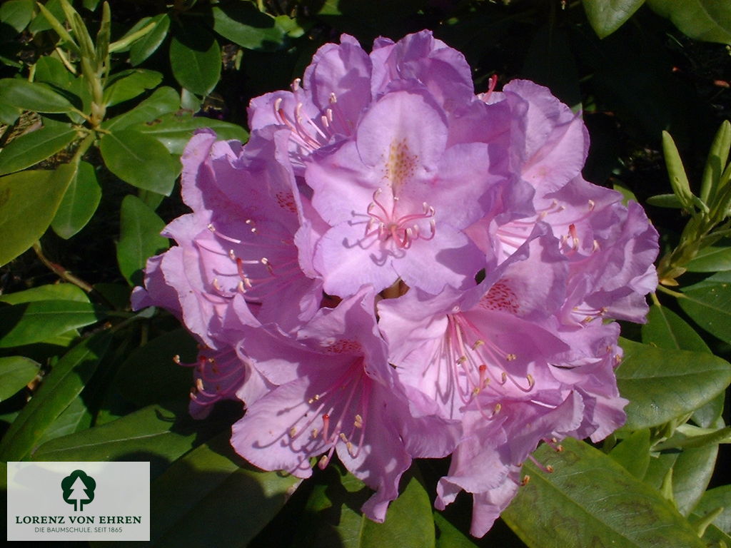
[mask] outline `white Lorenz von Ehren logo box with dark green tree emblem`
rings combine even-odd
[[[7,540],[149,541],[150,463],[7,463]]]

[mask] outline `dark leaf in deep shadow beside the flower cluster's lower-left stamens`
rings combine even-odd
[[[173,362],[194,363],[197,343],[184,329],[167,332],[129,354],[117,372],[114,384],[126,399],[140,406],[173,400],[189,392],[190,368]]]

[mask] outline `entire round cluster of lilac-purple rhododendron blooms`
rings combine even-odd
[[[482,536],[541,441],[624,422],[618,324],[644,321],[657,234],[588,183],[588,134],[548,89],[474,94],[430,32],[321,47],[251,102],[251,139],[194,135],[192,209],[135,308],[200,341],[190,410],[238,399],[236,452],[300,478],[337,455],[385,519],[412,459],[447,457]]]

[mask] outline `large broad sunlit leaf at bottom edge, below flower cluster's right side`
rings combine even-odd
[[[553,473],[526,462],[530,482],[502,514],[529,547],[705,547],[671,503],[606,454],[571,438],[561,444],[563,452],[535,453]]]

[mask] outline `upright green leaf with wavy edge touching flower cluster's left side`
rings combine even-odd
[[[122,200],[120,216],[117,243],[119,270],[130,285],[141,285],[147,259],[170,246],[167,238],[160,235],[165,223],[132,194]]]

